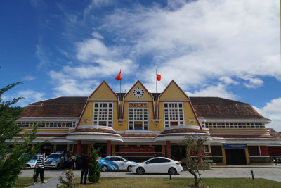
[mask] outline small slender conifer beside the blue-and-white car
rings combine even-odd
[[[93,145],[91,146],[91,163],[89,163],[89,176],[88,180],[91,183],[98,182],[100,180],[100,170],[98,170],[99,165],[98,165],[98,151],[100,149],[94,149]]]

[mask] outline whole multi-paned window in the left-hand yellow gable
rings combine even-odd
[[[112,127],[113,103],[93,103],[93,125]]]

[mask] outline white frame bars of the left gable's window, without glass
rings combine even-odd
[[[98,104],[98,107],[95,107],[95,104]],[[100,104],[107,104],[107,107],[100,107]],[[110,107],[110,104],[112,104],[112,107]],[[95,120],[95,109],[98,109],[97,120]],[[110,109],[112,110],[111,119],[109,119]],[[105,120],[100,119],[100,110],[107,110],[106,119]],[[114,114],[113,102],[93,102],[93,120],[92,120],[92,125],[93,126],[103,126],[103,127],[113,127],[113,114]],[[106,122],[106,125],[99,125],[99,123],[102,122],[102,121]]]

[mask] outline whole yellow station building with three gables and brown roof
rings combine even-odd
[[[89,152],[141,159],[185,158],[185,135],[208,137],[214,165],[269,165],[281,156],[281,139],[249,104],[218,97],[188,97],[176,82],[150,93],[140,82],[115,93],[103,81],[89,97],[58,97],[28,105],[17,120],[23,132],[41,122],[34,143],[48,140],[48,152]],[[23,132],[21,134],[23,134]],[[21,136],[19,134],[19,137]]]

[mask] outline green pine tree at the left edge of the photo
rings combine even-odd
[[[32,131],[25,132],[20,138],[17,135],[22,131],[21,125],[15,125],[19,117],[11,110],[11,105],[18,102],[22,97],[14,98],[11,101],[4,101],[1,96],[4,92],[12,89],[21,82],[16,82],[0,89],[0,187],[13,187],[18,175],[20,175],[25,163],[39,151],[41,144],[30,149],[30,144],[37,135],[37,126]],[[13,141],[14,140],[14,141]],[[26,155],[24,153],[30,150]]]

